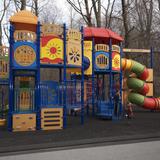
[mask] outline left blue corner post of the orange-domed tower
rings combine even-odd
[[[14,34],[14,28],[12,24],[10,24],[10,39],[9,39],[9,112],[8,112],[8,130],[12,131],[12,113],[14,110],[14,92],[13,92],[13,72],[12,72],[12,60],[13,60],[13,34]]]

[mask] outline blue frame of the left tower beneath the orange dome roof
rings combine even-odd
[[[34,71],[35,76],[35,109],[32,111],[18,111],[18,113],[37,113],[37,129],[40,129],[40,23],[38,22],[36,28],[37,40],[33,43],[31,42],[14,42],[14,26],[10,24],[10,58],[9,58],[9,112],[8,112],[8,130],[12,131],[12,115],[17,113],[14,111],[14,77],[15,76],[29,76],[29,74],[16,74],[16,71],[24,69],[27,71]],[[14,59],[13,54],[14,50],[21,46],[21,45],[28,45],[31,46],[36,52],[36,62],[34,62],[31,66],[23,67],[18,65]]]

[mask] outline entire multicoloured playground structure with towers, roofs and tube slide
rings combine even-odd
[[[146,94],[149,87],[143,81],[128,76],[129,89],[124,91],[122,69],[148,82],[153,82],[153,75],[138,62],[122,59],[123,39],[111,30],[81,27],[79,31],[65,24],[40,24],[28,11],[16,13],[10,23],[9,50],[0,50],[0,85],[9,86],[9,131],[66,128],[69,110],[80,112],[81,124],[90,110],[93,116],[119,119],[127,97],[147,109],[159,109],[159,99],[128,93],[132,89]],[[46,68],[57,69],[59,80],[42,81],[41,68],[43,72]],[[3,113],[1,117],[4,124]]]

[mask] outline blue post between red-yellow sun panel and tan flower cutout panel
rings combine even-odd
[[[64,47],[64,64],[63,64],[63,128],[67,127],[67,104],[66,104],[66,87],[67,87],[67,77],[66,77],[66,65],[67,65],[67,46],[66,46],[66,24],[63,24],[63,47]]]

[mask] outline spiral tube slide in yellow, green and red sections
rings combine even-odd
[[[128,100],[145,109],[160,110],[160,98],[148,98],[144,96],[149,91],[149,86],[145,83],[145,80],[149,76],[147,68],[134,60],[123,58],[122,69],[135,73],[137,77],[127,79],[127,86],[129,89],[132,89],[132,92],[128,95]]]

